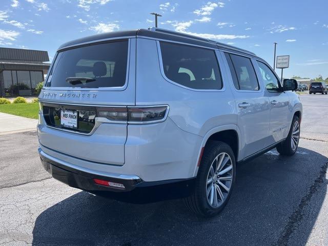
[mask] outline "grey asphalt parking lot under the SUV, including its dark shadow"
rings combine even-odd
[[[181,200],[130,204],[50,178],[35,132],[0,136],[1,245],[328,245],[328,95],[300,95],[293,157],[272,150],[237,168],[226,209],[195,217]]]

